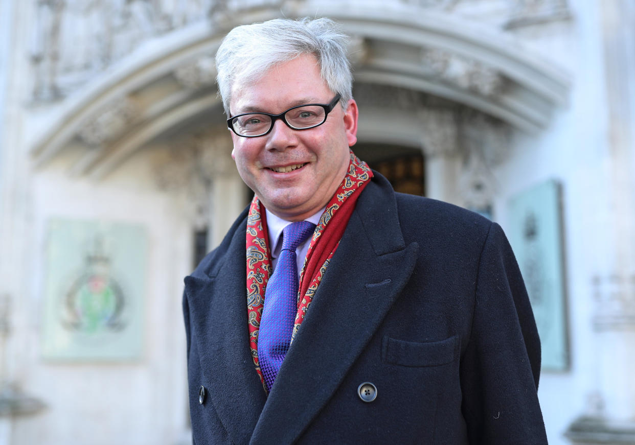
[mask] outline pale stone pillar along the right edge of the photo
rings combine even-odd
[[[573,444],[635,443],[635,4],[603,0],[608,150],[592,277],[596,389],[566,433]],[[598,168],[598,171],[601,171]],[[605,212],[601,210],[606,209]]]

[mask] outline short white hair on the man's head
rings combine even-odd
[[[254,83],[271,67],[311,54],[333,93],[342,95],[342,107],[352,98],[351,64],[346,56],[349,37],[330,18],[276,18],[241,25],[223,39],[216,55],[218,91],[229,116],[232,86]]]

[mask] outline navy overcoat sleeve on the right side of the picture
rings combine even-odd
[[[460,372],[471,445],[547,444],[537,395],[540,339],[516,258],[496,223],[479,260]]]

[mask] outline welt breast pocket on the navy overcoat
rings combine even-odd
[[[384,336],[382,362],[401,366],[441,366],[458,357],[458,336],[439,342],[406,342]]]

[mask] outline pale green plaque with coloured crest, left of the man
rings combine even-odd
[[[144,227],[54,219],[44,257],[43,356],[138,359],[143,347]]]

